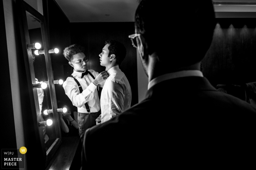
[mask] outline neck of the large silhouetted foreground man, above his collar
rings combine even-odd
[[[201,62],[198,62],[190,66],[174,68],[174,69],[166,68],[166,66],[162,66],[162,64],[159,63],[159,58],[157,54],[153,53],[148,57],[148,67],[146,68],[148,73],[148,82],[150,82],[151,80],[153,80],[158,76],[171,73],[171,72],[178,72],[183,70],[199,70],[200,71],[200,63]]]

